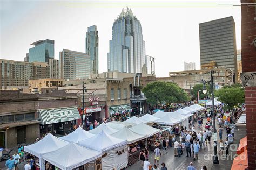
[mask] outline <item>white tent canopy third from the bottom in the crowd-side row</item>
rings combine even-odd
[[[146,135],[138,134],[131,131],[129,128],[124,127],[116,133],[111,134],[112,137],[123,139],[127,141],[127,144],[134,143],[136,141],[146,138]]]

